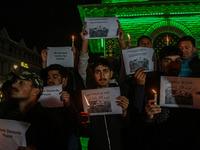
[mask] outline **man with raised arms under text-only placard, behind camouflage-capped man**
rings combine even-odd
[[[73,97],[73,103],[75,104],[78,111],[82,111],[82,103],[80,101],[80,95],[77,94],[77,92],[80,91],[80,89],[84,89],[84,83],[81,79],[81,76],[79,75],[79,68],[82,67],[81,63],[78,64],[76,61],[76,57],[78,55],[78,50],[75,47],[72,47],[71,49],[74,53],[74,68],[64,67],[61,64],[51,64],[47,67],[47,59],[48,59],[48,49],[43,49],[41,51],[42,56],[42,70],[41,70],[41,77],[45,81],[45,85],[52,86],[52,85],[62,85],[63,87],[63,93],[62,95],[71,95],[71,98]],[[82,53],[81,53],[82,54]],[[66,65],[65,65],[66,66]],[[78,67],[78,68],[77,68]],[[47,71],[47,69],[51,68],[50,71]],[[54,68],[54,69],[53,69]],[[49,78],[48,78],[49,77]],[[47,79],[48,78],[48,79]],[[47,83],[49,81],[49,83]],[[66,93],[67,92],[67,93]],[[61,95],[61,96],[62,96]],[[68,102],[68,101],[65,101]],[[67,106],[68,104],[66,104]]]

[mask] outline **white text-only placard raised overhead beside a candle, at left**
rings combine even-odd
[[[48,47],[47,66],[59,64],[64,67],[74,67],[74,54],[71,47]]]

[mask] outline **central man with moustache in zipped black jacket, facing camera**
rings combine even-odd
[[[93,76],[96,88],[109,88],[116,85],[109,84],[113,76],[111,64],[106,58],[98,58],[93,66]],[[122,131],[128,117],[129,100],[125,96],[117,97],[118,106],[122,107],[121,115],[99,115],[90,117],[89,150],[122,150]]]

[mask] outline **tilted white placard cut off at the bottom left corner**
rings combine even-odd
[[[15,120],[0,119],[0,150],[17,150],[26,145],[25,133],[30,124]]]

